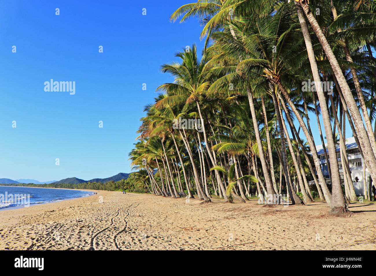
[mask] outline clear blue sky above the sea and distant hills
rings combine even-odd
[[[160,65],[186,45],[202,49],[196,19],[169,21],[188,2],[194,1],[2,1],[0,178],[88,180],[130,172],[143,107],[159,84],[172,81]],[[75,81],[76,94],[45,92],[50,79]]]

